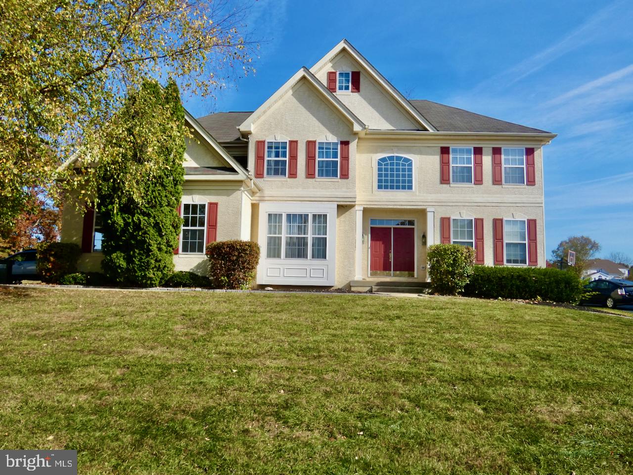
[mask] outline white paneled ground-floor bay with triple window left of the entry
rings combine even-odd
[[[333,286],[336,203],[261,203],[261,285]]]

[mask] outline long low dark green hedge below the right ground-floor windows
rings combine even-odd
[[[582,282],[567,270],[541,267],[475,266],[464,295],[479,298],[517,298],[577,303]]]

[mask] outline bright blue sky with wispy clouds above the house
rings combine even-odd
[[[196,117],[254,110],[343,37],[410,99],[558,137],[544,149],[546,253],[568,236],[633,255],[633,1],[258,0],[256,74]]]

